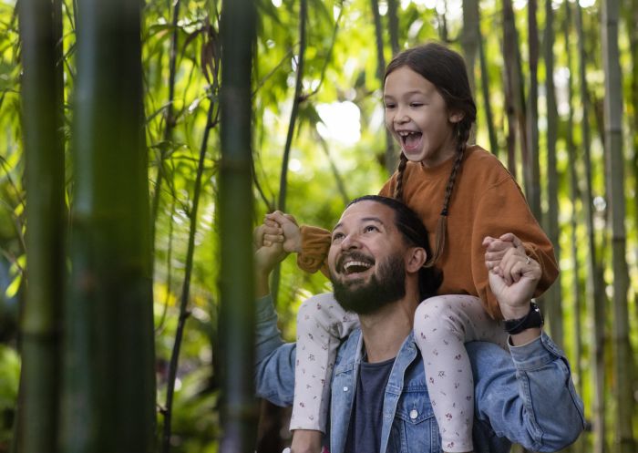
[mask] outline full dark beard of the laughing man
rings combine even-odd
[[[373,273],[367,283],[348,284],[339,281],[331,273],[334,299],[345,310],[355,314],[371,314],[406,295],[406,265],[401,254],[395,253],[380,263],[378,274],[377,277]]]

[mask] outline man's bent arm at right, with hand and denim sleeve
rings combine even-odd
[[[539,263],[521,246],[509,248],[489,270],[489,284],[506,320],[529,313],[540,274]],[[468,345],[476,416],[499,436],[534,451],[570,445],[584,428],[584,417],[567,359],[540,327],[510,335],[509,349],[510,357],[495,346]]]

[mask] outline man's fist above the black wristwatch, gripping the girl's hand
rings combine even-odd
[[[485,238],[483,245],[488,247],[490,239]],[[510,247],[499,265],[489,270],[489,286],[505,319],[517,319],[529,312],[541,273],[540,264],[527,256],[522,246]]]

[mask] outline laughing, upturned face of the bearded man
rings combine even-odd
[[[335,299],[357,314],[370,314],[406,294],[406,245],[395,212],[376,201],[349,206],[328,252]]]

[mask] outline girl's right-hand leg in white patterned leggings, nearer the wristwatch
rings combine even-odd
[[[505,345],[507,335],[478,297],[449,294],[419,304],[415,339],[423,356],[443,450],[472,451],[474,379],[464,343],[484,340]]]

